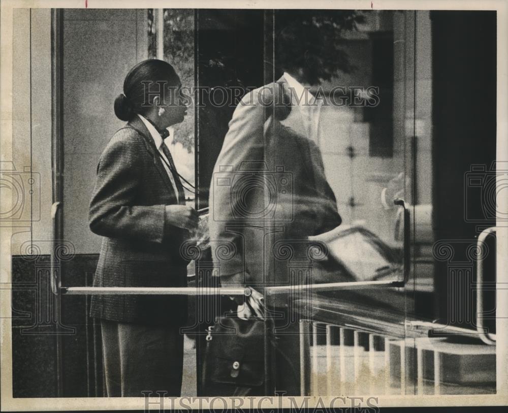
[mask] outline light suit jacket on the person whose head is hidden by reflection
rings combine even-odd
[[[306,135],[283,78],[253,90],[236,108],[210,188],[212,256],[223,283],[262,288],[295,282],[288,264],[308,260],[307,237],[341,223],[321,151]],[[236,253],[221,253],[221,244]]]

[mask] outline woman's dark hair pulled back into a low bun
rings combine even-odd
[[[165,82],[157,84],[155,82]],[[153,98],[162,87],[176,86],[178,75],[167,61],[148,59],[134,66],[123,82],[123,93],[115,99],[115,115],[120,120],[131,120],[151,107]],[[148,93],[150,91],[150,93]],[[163,100],[164,95],[161,96]],[[146,101],[145,102],[145,98]],[[148,105],[147,105],[148,103]]]

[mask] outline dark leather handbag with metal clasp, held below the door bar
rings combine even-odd
[[[202,395],[263,396],[274,393],[271,320],[220,317],[209,327],[202,365]]]

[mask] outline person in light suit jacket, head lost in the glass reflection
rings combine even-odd
[[[268,297],[263,289],[312,283],[311,273],[292,273],[289,263],[308,262],[307,237],[337,227],[341,218],[317,145],[321,105],[305,87],[319,80],[310,63],[319,56],[314,49],[305,59],[284,54],[288,42],[298,41],[291,28],[277,41],[284,74],[248,93],[233,114],[212,175],[209,227],[218,241],[212,248],[226,241],[236,250],[227,259],[212,250],[221,283],[251,290],[238,315],[264,317],[268,308],[274,316],[276,390],[298,395],[295,297]]]

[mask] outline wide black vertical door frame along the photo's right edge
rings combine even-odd
[[[483,172],[474,173],[482,180],[494,173],[493,167],[489,168],[496,160],[497,145],[497,17],[496,11],[492,10],[439,10],[430,14],[432,224],[435,242],[466,240],[473,243],[482,230],[496,225],[495,218],[483,212],[481,193],[469,192],[471,187],[465,177],[471,174],[473,166],[485,168]],[[458,248],[457,244],[453,245]],[[466,257],[465,251],[455,251],[455,254]],[[495,253],[486,258],[485,264],[494,270],[484,268],[484,281],[494,282]],[[437,318],[442,324],[471,328],[471,321],[476,319],[475,297],[463,301],[462,306],[458,306],[457,301],[450,301],[454,294],[460,294],[464,300],[463,297],[470,293],[469,287],[464,288],[460,280],[452,281],[455,278],[451,278],[449,271],[458,259],[451,260],[435,260],[434,264]],[[476,267],[471,268],[474,282]],[[493,300],[495,298],[491,296],[490,302]],[[489,302],[487,297],[485,302]],[[495,325],[491,327],[495,328]]]

